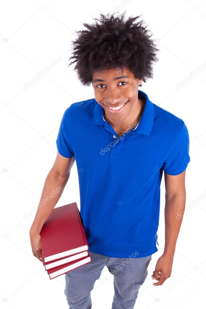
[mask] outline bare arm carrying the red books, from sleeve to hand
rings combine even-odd
[[[61,197],[61,194],[69,179],[70,171],[74,165],[74,161],[75,157],[65,158],[57,151],[57,156],[53,167],[49,171],[44,182],[39,206],[29,231],[33,255],[40,261],[42,261],[40,242],[41,228]],[[57,188],[60,188],[60,190],[58,190],[59,192],[56,191]],[[46,203],[43,203],[45,196],[50,196],[53,191],[55,192],[54,197],[48,199]]]

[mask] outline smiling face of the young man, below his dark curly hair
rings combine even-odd
[[[114,122],[126,121],[137,110],[138,86],[141,83],[142,80],[135,78],[126,67],[123,71],[105,67],[92,75],[95,100]]]

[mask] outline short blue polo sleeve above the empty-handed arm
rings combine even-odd
[[[189,133],[187,126],[183,123],[182,129],[162,165],[162,169],[166,174],[179,175],[187,168],[189,162]]]

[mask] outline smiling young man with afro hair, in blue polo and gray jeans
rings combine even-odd
[[[94,98],[65,110],[57,157],[42,192],[43,198],[53,188],[64,189],[76,160],[80,214],[92,261],[65,274],[71,309],[91,308],[90,292],[104,266],[114,276],[112,309],[134,307],[152,254],[158,251],[163,171],[165,248],[152,274],[157,280],[153,285],[162,285],[171,275],[182,222],[177,214],[185,208],[189,135],[181,118],[138,90],[152,77],[158,49],[142,22],[133,24],[137,18],[125,22],[124,13],[117,18],[101,14],[100,24],[84,24],[89,30],[79,32],[74,41],[71,58],[77,62],[78,78],[83,85],[92,83]],[[39,260],[40,230],[61,193],[38,209],[30,230]]]

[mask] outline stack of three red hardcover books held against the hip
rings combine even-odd
[[[50,279],[91,262],[76,202],[54,208],[40,236],[42,262]]]

